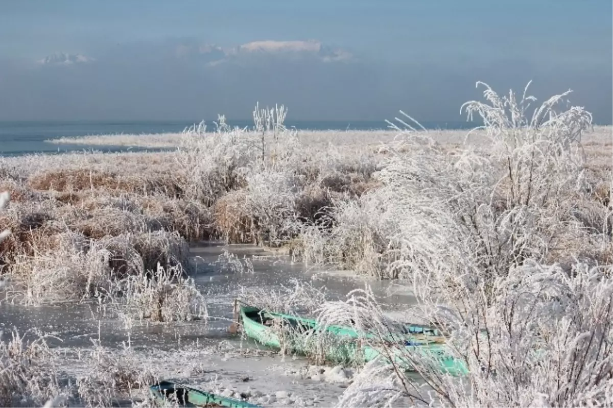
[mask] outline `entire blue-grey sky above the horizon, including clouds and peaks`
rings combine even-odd
[[[0,1],[9,121],[461,121],[533,80],[613,123],[612,66],[611,0]]]

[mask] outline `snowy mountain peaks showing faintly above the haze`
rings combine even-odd
[[[224,62],[240,61],[245,58],[306,58],[321,62],[351,61],[354,59],[354,56],[349,51],[324,45],[317,40],[264,40],[248,42],[230,48],[211,44],[178,43],[173,45],[172,54],[178,59],[198,59],[210,66],[223,64]],[[96,59],[90,56],[59,52],[48,55],[37,62],[45,66],[71,66],[74,64],[88,64],[95,61]]]

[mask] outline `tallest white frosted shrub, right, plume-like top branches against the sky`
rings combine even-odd
[[[547,100],[526,123],[525,105],[532,98],[518,103],[511,93],[501,99],[490,88],[485,95],[491,107],[465,107],[484,116],[493,155],[466,149],[451,160],[438,146],[415,143],[378,173],[384,187],[376,194],[393,206],[398,225],[390,237],[397,248],[391,274],[441,268],[450,278],[475,270],[493,278],[584,237],[572,216],[573,202],[584,194],[574,143],[589,114],[579,108],[555,113],[563,94]],[[501,116],[504,108],[511,119]],[[544,115],[549,119],[541,120]]]

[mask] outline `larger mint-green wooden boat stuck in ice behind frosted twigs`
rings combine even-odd
[[[244,304],[240,306],[240,320],[249,338],[276,349],[286,347],[292,352],[306,354],[308,350],[313,350],[312,347],[316,347],[317,336],[323,334],[335,339],[332,347],[326,347],[326,350],[322,351],[326,360],[333,363],[368,362],[381,355],[381,351],[376,347],[360,347],[360,334],[349,327],[330,326],[321,330],[314,319],[264,311]],[[289,330],[275,330],[275,327],[280,328],[283,325]],[[372,334],[366,334],[362,338],[370,340],[369,343],[378,339]],[[468,372],[462,361],[448,355],[444,338],[435,328],[407,325],[402,338],[390,341],[399,346],[392,348],[394,362],[406,370],[413,369],[406,358],[403,358],[408,351],[433,355],[438,360],[440,369],[449,374],[460,375]]]

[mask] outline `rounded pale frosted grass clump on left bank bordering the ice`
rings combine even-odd
[[[9,271],[14,297],[28,304],[104,296],[113,282],[156,273],[158,265],[188,264],[188,247],[176,233],[122,234],[100,241],[74,232],[56,236],[54,249],[17,255]]]

